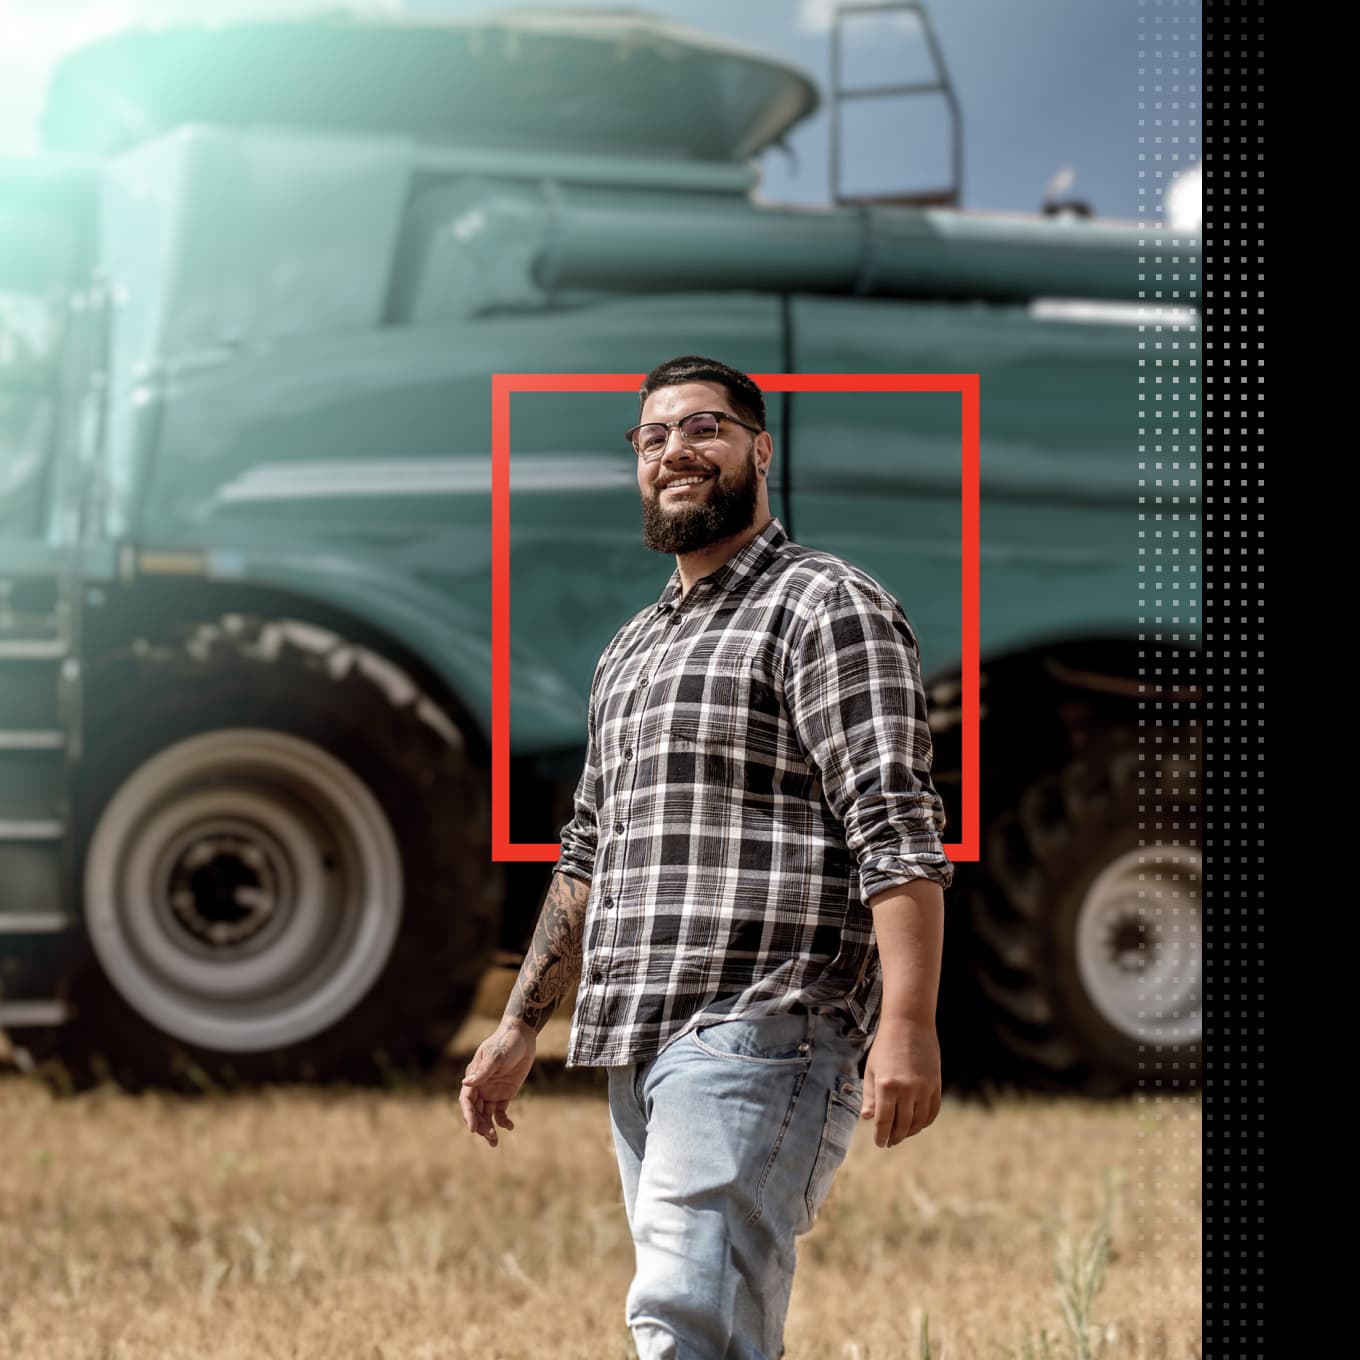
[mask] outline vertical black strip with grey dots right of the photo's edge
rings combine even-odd
[[[1265,7],[1204,7],[1204,1355],[1265,1355]]]

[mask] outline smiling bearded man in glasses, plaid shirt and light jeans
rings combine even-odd
[[[609,1069],[639,1356],[774,1360],[857,1117],[891,1148],[938,1112],[953,870],[915,638],[771,515],[759,388],[688,355],[641,397],[643,540],[676,571],[596,668],[562,858],[460,1103],[492,1146],[514,1127],[579,979],[567,1062]]]

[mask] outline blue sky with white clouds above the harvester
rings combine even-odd
[[[82,38],[136,22],[280,15],[316,7],[317,0],[0,0],[0,152],[33,150],[46,75],[61,52]],[[348,7],[404,8],[423,18],[522,8],[496,0],[358,0]],[[570,7],[568,0],[534,5]],[[834,0],[646,0],[636,8],[762,49],[827,88]],[[1066,196],[1092,204],[1102,218],[1161,215],[1161,181],[1151,170],[1140,178],[1148,163],[1138,160],[1140,150],[1146,151],[1138,137],[1149,133],[1151,110],[1138,107],[1149,99],[1138,90],[1140,16],[1146,14],[1138,0],[934,0],[929,11],[963,106],[964,207],[1034,212],[1046,185],[1066,171]],[[1189,5],[1185,22],[1185,46],[1198,48],[1191,41],[1198,20]],[[849,82],[918,79],[926,73],[925,57],[910,19],[853,20],[846,30]],[[1178,58],[1186,61],[1176,92],[1182,118],[1190,116],[1186,106],[1200,99],[1198,90],[1190,88],[1198,86],[1198,73],[1189,57],[1187,50]],[[1166,94],[1170,102],[1170,88]],[[862,103],[847,118],[853,121],[842,146],[849,189],[928,188],[948,178],[941,99]],[[1182,140],[1166,148],[1166,170],[1189,167],[1198,156],[1198,128],[1178,131]],[[828,147],[823,103],[790,136],[792,155],[771,151],[762,158],[763,196],[827,201]],[[1171,162],[1171,155],[1178,159]]]

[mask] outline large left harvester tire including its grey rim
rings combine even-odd
[[[107,657],[86,695],[72,1070],[211,1088],[437,1058],[503,884],[447,714],[374,651],[239,615]]]

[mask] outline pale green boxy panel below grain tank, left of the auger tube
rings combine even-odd
[[[193,128],[112,162],[109,533],[128,532],[155,441],[150,408],[177,369],[381,324],[407,181],[400,146],[286,133]]]

